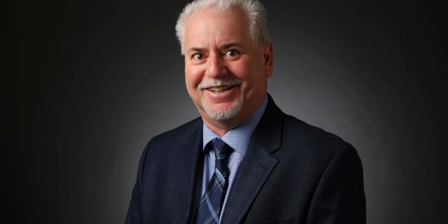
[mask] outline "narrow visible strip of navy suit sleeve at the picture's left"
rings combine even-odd
[[[126,215],[126,224],[139,224],[141,223],[141,190],[142,190],[142,176],[144,173],[146,155],[148,154],[148,149],[151,146],[150,143],[145,147],[139,162],[139,169],[137,170],[137,181],[135,182],[134,189],[132,190],[132,197],[129,209]]]

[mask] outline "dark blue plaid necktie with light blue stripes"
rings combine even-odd
[[[219,223],[221,207],[223,206],[225,193],[228,186],[228,155],[232,148],[221,139],[213,139],[211,146],[215,151],[215,172],[211,176],[207,191],[201,198],[196,223]]]

